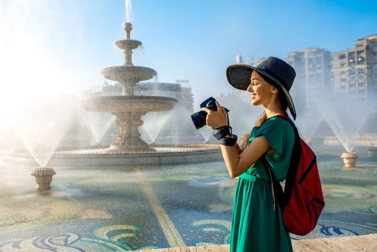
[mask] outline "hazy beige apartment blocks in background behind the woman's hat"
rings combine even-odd
[[[256,66],[264,58],[245,64]],[[377,97],[377,34],[355,41],[354,48],[330,52],[305,48],[287,53],[284,58],[296,71],[290,91],[297,107],[310,107],[321,99],[345,96],[357,101],[374,101]],[[237,63],[243,63],[241,55]]]

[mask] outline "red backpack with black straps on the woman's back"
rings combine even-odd
[[[279,116],[290,122],[295,135],[284,192],[265,155],[262,156],[262,161],[271,181],[274,210],[278,202],[286,230],[293,234],[306,235],[316,227],[325,207],[317,159],[313,150],[299,137],[293,121],[287,116]]]

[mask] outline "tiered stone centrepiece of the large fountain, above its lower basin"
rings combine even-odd
[[[120,127],[120,132],[116,141],[106,151],[155,151],[140,138],[138,127],[143,124],[141,116],[147,112],[170,110],[178,101],[169,97],[134,95],[136,83],[152,79],[156,75],[156,71],[133,66],[132,50],[140,46],[141,42],[130,39],[131,23],[126,22],[124,30],[126,39],[115,42],[116,46],[124,50],[124,65],[106,68],[101,72],[106,79],[117,81],[122,85],[123,95],[87,98],[83,105],[89,111],[112,113],[117,117],[115,124]]]

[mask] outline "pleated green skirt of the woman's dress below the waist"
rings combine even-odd
[[[269,181],[248,173],[237,182],[233,206],[230,250],[293,251],[280,207],[274,211]]]

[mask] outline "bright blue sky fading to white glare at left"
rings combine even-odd
[[[103,85],[122,66],[124,0],[0,0],[0,112]],[[377,1],[132,0],[135,66],[154,81],[189,80],[194,102],[232,91],[225,69],[244,61],[318,47],[353,48],[377,33]],[[112,84],[111,81],[108,81]]]

